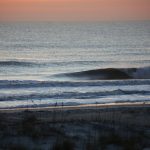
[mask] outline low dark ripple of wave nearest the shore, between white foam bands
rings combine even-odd
[[[5,95],[0,96],[0,101],[14,101],[14,100],[43,100],[43,99],[96,99],[109,95],[132,95],[142,94],[150,95],[149,91],[139,90],[113,90],[113,91],[101,91],[101,92],[62,92],[62,93],[32,93],[22,95]]]

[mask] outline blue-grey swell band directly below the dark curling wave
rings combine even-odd
[[[92,87],[92,86],[150,85],[145,80],[101,80],[101,81],[37,81],[37,80],[0,80],[0,89],[38,88],[38,87]]]

